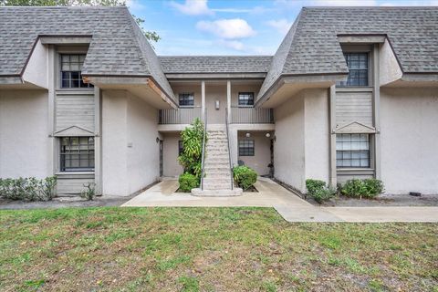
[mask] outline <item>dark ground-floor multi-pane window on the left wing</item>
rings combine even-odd
[[[60,170],[61,172],[94,171],[94,138],[62,137]]]

